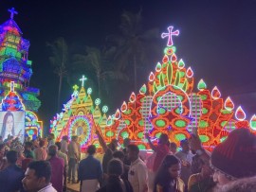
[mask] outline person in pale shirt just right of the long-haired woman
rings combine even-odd
[[[184,139],[180,141],[180,147],[181,147],[181,150],[178,151],[175,155],[181,161],[180,178],[186,184],[186,188],[187,188],[189,179],[192,175],[191,166],[192,166],[193,154],[192,154],[188,139]]]

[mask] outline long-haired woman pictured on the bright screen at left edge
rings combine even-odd
[[[7,139],[8,136],[15,136],[14,131],[14,116],[13,113],[7,112],[3,119],[3,126],[1,131],[1,136],[3,140]]]

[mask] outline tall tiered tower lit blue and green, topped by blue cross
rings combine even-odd
[[[32,61],[28,60],[29,41],[22,37],[20,27],[14,21],[18,12],[9,9],[10,18],[0,25],[0,99],[9,93],[9,82],[14,81],[16,92],[21,96],[27,110],[37,112],[41,101],[37,98],[40,92],[29,87],[32,76]]]

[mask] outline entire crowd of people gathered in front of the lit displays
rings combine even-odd
[[[155,145],[145,134],[151,153],[142,155],[128,138],[108,145],[96,129],[103,150],[88,146],[81,159],[78,136],[55,142],[47,138],[21,144],[0,138],[0,192],[63,192],[80,183],[81,192],[251,192],[256,191],[256,136],[248,129],[231,131],[212,151],[197,135],[180,147],[162,133]]]

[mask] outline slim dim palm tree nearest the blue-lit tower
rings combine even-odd
[[[63,79],[67,74],[68,46],[63,37],[57,38],[53,43],[46,43],[46,46],[49,47],[52,53],[52,55],[49,57],[49,61],[54,67],[54,73],[59,76],[59,89],[57,101],[58,110],[60,107]]]

